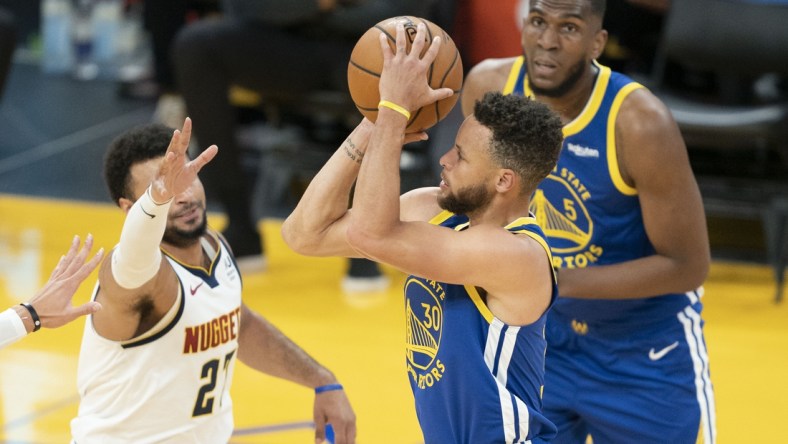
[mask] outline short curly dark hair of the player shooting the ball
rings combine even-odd
[[[489,92],[477,101],[473,115],[490,129],[493,161],[514,171],[522,193],[532,193],[555,168],[564,135],[558,114],[528,97]]]

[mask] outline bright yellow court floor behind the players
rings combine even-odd
[[[212,226],[224,223],[211,214]],[[73,235],[93,233],[109,249],[122,224],[110,204],[0,194],[0,310],[29,298]],[[350,297],[340,290],[343,259],[288,250],[279,221],[262,222],[268,270],[244,278],[244,299],[331,368],[358,417],[360,443],[419,443],[405,373],[404,281]],[[89,297],[94,279],[76,297]],[[719,443],[785,442],[788,418],[788,307],[773,302],[762,265],[715,262],[704,298],[706,339],[717,400]],[[67,443],[77,411],[77,352],[84,321],[42,330],[0,350],[0,441]],[[313,442],[310,390],[238,365],[232,387],[237,443]],[[186,400],[189,402],[191,400]]]

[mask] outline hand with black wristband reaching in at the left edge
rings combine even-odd
[[[71,299],[82,281],[101,263],[104,256],[102,248],[90,261],[85,262],[93,248],[93,236],[88,234],[82,248],[79,248],[79,243],[79,236],[74,236],[71,248],[60,258],[47,283],[28,301],[38,313],[42,327],[60,327],[80,316],[101,309],[101,304],[95,301],[78,307],[71,305]]]

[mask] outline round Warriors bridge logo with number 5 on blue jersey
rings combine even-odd
[[[531,199],[530,210],[550,239],[554,267],[583,268],[602,255],[602,247],[590,244],[594,222],[585,204],[590,198],[574,173],[555,168]]]

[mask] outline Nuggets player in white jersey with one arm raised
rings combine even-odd
[[[105,178],[126,221],[94,291],[104,308],[85,323],[74,442],[228,442],[236,359],[328,387],[315,396],[317,437],[329,422],[336,442],[353,442],[355,418],[334,375],[242,303],[241,275],[206,227],[197,178],[217,148],[188,161],[190,133],[188,119],[174,135],[142,126],[107,153]]]

